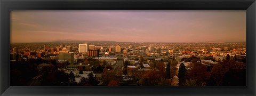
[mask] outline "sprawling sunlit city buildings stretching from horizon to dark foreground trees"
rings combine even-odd
[[[38,47],[39,46],[39,47]],[[13,44],[10,54],[11,62],[38,59],[55,60],[58,70],[65,73],[73,71],[76,82],[82,77],[88,78],[84,73],[93,73],[99,81],[102,79],[102,70],[113,70],[121,76],[118,85],[138,85],[138,80],[143,78],[147,71],[160,71],[157,63],[163,62],[163,70],[170,60],[177,62],[174,67],[179,69],[181,63],[186,69],[191,69],[191,57],[199,59],[199,63],[206,66],[218,65],[225,60],[227,55],[237,62],[246,61],[245,43],[74,43],[74,44]],[[40,63],[40,70],[50,63]],[[95,67],[95,68],[94,68]],[[125,72],[124,72],[125,71]],[[178,74],[176,70],[175,73]],[[177,78],[172,76],[171,78]],[[170,81],[173,83],[172,79]],[[173,85],[173,84],[172,84]]]

